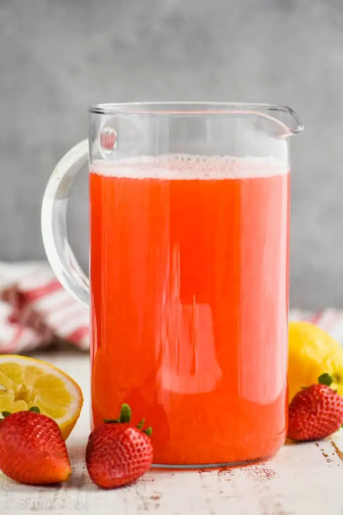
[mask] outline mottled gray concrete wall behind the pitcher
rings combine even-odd
[[[291,304],[343,306],[342,0],[0,0],[0,260],[43,258],[40,204],[88,104],[287,104]],[[86,173],[70,237],[87,261]]]

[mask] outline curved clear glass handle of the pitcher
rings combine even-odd
[[[45,252],[60,283],[73,297],[89,306],[89,279],[69,245],[67,203],[71,186],[88,161],[88,140],[71,148],[60,160],[45,188],[41,227]]]

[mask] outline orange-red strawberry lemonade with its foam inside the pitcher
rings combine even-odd
[[[93,425],[123,402],[154,464],[275,454],[287,416],[290,174],[262,158],[91,165]]]

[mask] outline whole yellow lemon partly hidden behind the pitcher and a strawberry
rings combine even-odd
[[[309,322],[290,322],[288,328],[289,401],[304,386],[329,373],[331,388],[343,396],[343,348],[332,336]]]

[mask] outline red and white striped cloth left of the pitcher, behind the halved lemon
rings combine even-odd
[[[88,309],[65,291],[45,262],[0,262],[0,353],[66,340],[89,347]]]

